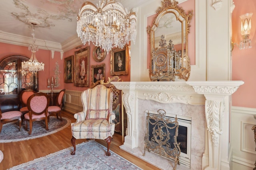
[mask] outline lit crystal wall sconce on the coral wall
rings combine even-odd
[[[250,30],[251,30],[251,17],[252,13],[247,13],[244,15],[241,15],[241,34],[242,34],[242,40],[240,41],[240,49],[248,49],[252,48],[251,46],[251,39],[249,39],[250,36]]]

